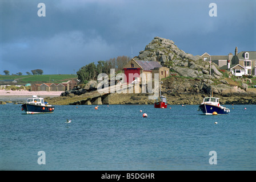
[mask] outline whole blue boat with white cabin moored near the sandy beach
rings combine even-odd
[[[53,113],[54,106],[49,105],[43,100],[42,97],[32,96],[27,98],[25,104],[21,106],[21,110],[25,111],[26,114],[41,114],[41,113]]]

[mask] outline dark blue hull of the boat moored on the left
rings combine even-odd
[[[45,113],[53,113],[54,106],[40,106],[35,104],[23,104],[22,110],[25,111],[26,114],[45,114]]]

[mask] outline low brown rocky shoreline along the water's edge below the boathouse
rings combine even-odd
[[[163,80],[161,85],[162,95],[166,96],[169,105],[199,105],[204,97],[210,96],[213,90],[214,97],[219,97],[220,104],[256,104],[256,92],[247,92],[235,86],[229,79],[224,79],[225,84],[214,85],[210,80],[199,78],[184,78],[171,76]],[[228,82],[230,81],[230,83]],[[210,83],[209,83],[210,82]],[[95,84],[93,84],[95,85]],[[231,86],[230,86],[231,85]],[[96,85],[95,85],[96,86]],[[85,86],[85,88],[87,88]],[[90,89],[95,90],[93,86]],[[79,91],[80,90],[80,91]],[[62,105],[63,100],[70,100],[70,104],[77,104],[72,100],[83,96],[83,88],[73,92],[66,92],[65,96],[46,98],[53,105]],[[79,94],[74,94],[79,93]],[[90,93],[86,91],[86,93]],[[64,93],[62,94],[64,95]],[[109,104],[154,104],[154,100],[149,100],[148,93],[113,93],[110,94]]]

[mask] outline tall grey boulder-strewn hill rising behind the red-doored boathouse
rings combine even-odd
[[[217,65],[203,61],[199,55],[179,49],[173,40],[155,37],[144,51],[139,52],[136,60],[159,61],[161,65],[169,67],[170,71],[178,73],[179,76],[192,78],[219,78],[222,73],[218,71]],[[211,69],[211,70],[210,70]],[[211,73],[211,75],[209,75]]]

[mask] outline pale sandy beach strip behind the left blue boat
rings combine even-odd
[[[27,90],[0,90],[0,101],[26,101],[33,95],[41,97],[58,97],[63,91],[27,91]]]

